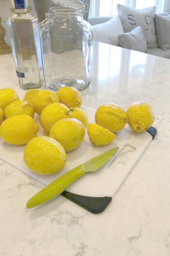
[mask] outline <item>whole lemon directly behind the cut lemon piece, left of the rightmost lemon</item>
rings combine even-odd
[[[124,128],[128,122],[128,116],[117,104],[105,103],[97,108],[95,122],[112,133],[116,133]]]

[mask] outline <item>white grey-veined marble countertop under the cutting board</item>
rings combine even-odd
[[[12,54],[0,63],[0,88],[24,95]],[[0,160],[0,256],[170,255],[170,60],[95,43],[93,79],[81,93],[92,108],[150,103],[157,135],[101,214],[64,197],[26,209],[44,186]]]

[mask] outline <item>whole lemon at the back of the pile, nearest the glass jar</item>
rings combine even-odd
[[[59,98],[59,102],[65,104],[68,108],[80,107],[82,104],[81,93],[72,86],[61,87],[56,94]]]

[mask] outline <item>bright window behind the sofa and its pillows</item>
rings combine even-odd
[[[169,0],[91,0],[89,16],[117,15],[117,4],[127,5],[136,9],[156,6],[156,13],[166,12]]]

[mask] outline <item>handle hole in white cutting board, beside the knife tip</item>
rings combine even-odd
[[[112,168],[115,172],[120,171],[132,157],[135,150],[136,149],[131,145],[124,145],[118,155],[109,163],[107,168]]]

